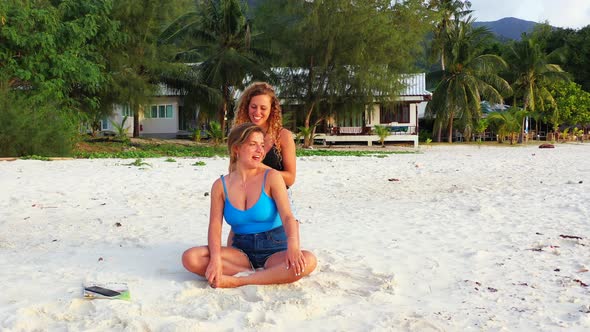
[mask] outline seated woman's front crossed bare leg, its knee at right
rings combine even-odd
[[[306,265],[305,270],[299,275],[295,275],[293,269],[287,269],[287,266],[285,266],[285,255],[287,253],[281,251],[268,258],[264,269],[257,270],[250,275],[234,277],[233,275],[223,273],[223,277],[215,287],[232,288],[244,285],[270,285],[295,282],[313,272],[317,265],[317,259],[314,254],[306,250],[302,250],[302,252],[305,255]]]

